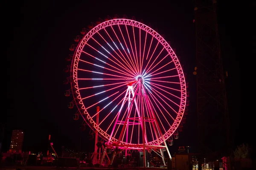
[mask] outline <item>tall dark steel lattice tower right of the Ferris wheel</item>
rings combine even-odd
[[[216,0],[195,0],[195,28],[198,145],[203,155],[214,159],[230,153]]]

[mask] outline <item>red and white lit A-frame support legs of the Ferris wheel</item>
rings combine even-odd
[[[136,86],[135,84],[138,84],[138,85]],[[137,87],[135,89],[135,91],[134,91],[133,85],[135,85]],[[151,103],[150,103],[150,101],[148,99],[148,95],[146,94],[145,86],[143,85],[143,77],[138,77],[138,80],[135,80],[132,83],[128,83],[127,86],[128,86],[128,88],[127,88],[125,97],[123,99],[123,102],[122,102],[122,105],[121,105],[121,109],[117,113],[117,117],[119,117],[120,112],[121,112],[121,110],[122,110],[122,108],[124,106],[125,101],[128,101],[128,108],[127,108],[128,114],[127,114],[127,117],[126,117],[125,121],[116,121],[116,123],[114,124],[114,125],[118,125],[118,124],[119,125],[120,124],[123,125],[122,131],[121,131],[121,134],[120,134],[118,140],[121,141],[121,137],[125,133],[125,130],[126,130],[126,136],[128,136],[128,129],[129,129],[128,126],[129,125],[132,125],[132,126],[135,125],[134,122],[133,123],[129,123],[129,121],[137,121],[137,125],[139,125],[142,128],[143,144],[119,144],[119,142],[116,142],[116,143],[112,143],[111,144],[112,146],[110,145],[110,147],[115,147],[115,148],[119,148],[121,150],[125,150],[125,156],[127,156],[127,152],[128,152],[128,150],[130,148],[131,149],[143,148],[143,155],[144,155],[143,156],[143,164],[144,164],[144,166],[146,165],[146,158],[145,158],[146,150],[148,150],[148,151],[153,150],[155,153],[157,153],[159,156],[162,157],[163,164],[164,164],[164,166],[166,166],[166,163],[165,163],[165,160],[164,160],[163,150],[167,151],[168,156],[169,156],[170,159],[172,159],[172,156],[171,156],[171,154],[169,152],[169,149],[168,149],[167,144],[165,142],[165,139],[163,137],[163,133],[160,130],[160,126],[159,126],[159,124],[157,122],[156,116],[154,115],[154,112],[152,110],[152,106],[151,106]],[[140,104],[137,103],[138,100],[141,102]],[[135,117],[135,116],[134,117],[130,117],[131,116],[131,112],[132,112],[131,108],[133,107],[133,105],[136,106],[136,112],[137,112],[137,116],[138,117]],[[137,107],[138,105],[140,105],[141,108],[138,108]],[[144,117],[143,116],[144,112],[147,111],[144,108],[149,108],[148,109],[148,112],[149,112],[148,115],[150,117]],[[118,120],[118,118],[116,120]],[[147,144],[145,144],[145,143],[147,143],[146,135],[145,135],[145,132],[144,132],[144,130],[145,130],[145,122],[151,122],[152,127],[154,129],[154,133],[157,136],[157,143],[158,143],[158,145],[147,145]],[[115,129],[115,127],[113,127],[113,130],[111,132],[111,136],[113,135],[114,129]],[[159,137],[161,137],[163,139],[163,142],[158,140]],[[128,137],[126,139],[128,139]],[[126,140],[126,142],[128,142],[128,141]],[[113,146],[113,144],[115,146]],[[103,159],[105,157],[105,153],[106,153],[106,150],[103,153],[103,156],[102,156],[102,159],[100,161],[100,164],[102,164],[102,161],[103,161]],[[114,159],[115,155],[116,155],[116,150],[113,153],[113,156],[112,156],[112,159],[111,159],[111,164],[113,162],[113,159]]]

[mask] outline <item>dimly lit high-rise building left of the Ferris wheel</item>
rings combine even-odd
[[[24,133],[22,130],[12,130],[10,151],[21,152],[23,139],[24,139]]]

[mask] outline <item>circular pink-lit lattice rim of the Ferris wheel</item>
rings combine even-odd
[[[151,34],[155,39],[159,41],[160,44],[163,45],[165,50],[168,52],[169,56],[172,58],[173,62],[175,63],[175,68],[178,73],[178,77],[180,80],[180,106],[179,106],[179,111],[177,113],[177,117],[172,124],[172,127],[169,128],[169,130],[166,133],[163,133],[163,138],[160,136],[158,140],[160,143],[163,143],[164,140],[169,139],[173,133],[177,130],[177,127],[180,125],[181,119],[183,117],[183,113],[185,111],[185,106],[186,106],[186,82],[183,74],[183,70],[181,68],[180,62],[177,59],[177,56],[175,55],[175,52],[172,50],[170,45],[166,42],[166,40],[163,39],[156,31],[151,29],[150,27],[144,25],[143,23],[134,21],[134,20],[128,20],[128,19],[113,19],[113,20],[108,20],[103,23],[100,23],[99,25],[95,26],[92,28],[79,42],[79,45],[76,47],[75,54],[73,56],[73,61],[72,61],[72,66],[71,66],[71,79],[73,80],[71,82],[71,89],[73,91],[73,96],[76,102],[76,105],[78,106],[79,112],[81,113],[83,119],[87,124],[93,129],[97,130],[99,132],[99,135],[102,136],[104,139],[109,140],[111,142],[118,142],[118,139],[113,138],[111,135],[109,135],[107,132],[102,130],[96,122],[92,119],[90,114],[87,112],[87,108],[84,105],[84,102],[81,98],[80,91],[79,91],[79,83],[78,83],[78,64],[79,64],[79,58],[82,53],[82,50],[84,46],[87,44],[87,41],[90,40],[90,38],[96,34],[98,31],[100,31],[103,28],[109,27],[109,26],[114,26],[114,25],[127,25],[127,26],[134,26],[137,27],[143,31],[146,31],[148,34]],[[141,149],[143,148],[143,144],[132,144],[132,143],[127,143],[120,141],[120,144],[122,145],[129,145],[129,148],[134,148],[134,149]],[[147,145],[158,145],[157,139],[151,142],[147,142]],[[134,145],[134,147],[133,147]]]

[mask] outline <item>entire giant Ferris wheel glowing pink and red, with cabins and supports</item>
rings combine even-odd
[[[81,115],[108,146],[126,153],[154,150],[163,160],[166,150],[171,158],[166,142],[172,142],[173,135],[177,138],[187,92],[169,43],[129,19],[105,20],[81,34],[68,58],[72,64],[67,81],[74,97],[69,108],[76,104],[76,116]]]

